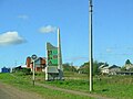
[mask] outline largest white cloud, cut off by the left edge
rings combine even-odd
[[[16,45],[23,43],[24,40],[18,35],[18,32],[6,32],[0,34],[0,46],[4,45]]]

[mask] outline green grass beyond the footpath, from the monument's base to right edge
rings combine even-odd
[[[74,75],[69,74],[69,77],[71,77],[71,79],[65,79],[64,81],[41,82],[61,88],[89,92],[88,77],[83,76],[83,78],[81,77],[80,79],[75,79],[74,77],[78,76]],[[115,99],[133,99],[133,76],[101,76],[101,79],[94,77],[93,89],[93,94],[101,95],[104,97]]]

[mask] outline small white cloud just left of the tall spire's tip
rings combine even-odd
[[[57,31],[57,28],[52,25],[47,25],[39,29],[39,32],[41,33],[53,33],[55,31]]]

